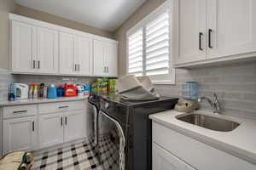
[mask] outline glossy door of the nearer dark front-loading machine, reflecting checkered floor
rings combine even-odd
[[[125,134],[119,122],[99,112],[99,156],[104,170],[125,170]]]

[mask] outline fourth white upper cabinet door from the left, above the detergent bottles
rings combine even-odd
[[[91,76],[92,66],[92,40],[87,37],[77,37],[76,57],[79,65],[79,75]]]

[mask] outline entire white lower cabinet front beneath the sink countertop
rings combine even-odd
[[[192,167],[197,170],[256,169],[256,165],[249,161],[213,148],[156,122],[153,122],[152,133],[154,170],[191,170]]]

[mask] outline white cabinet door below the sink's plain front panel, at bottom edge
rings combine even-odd
[[[153,170],[189,170],[176,156],[153,144]]]

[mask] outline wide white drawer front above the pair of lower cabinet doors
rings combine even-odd
[[[39,114],[85,109],[84,101],[57,102],[38,105]]]

